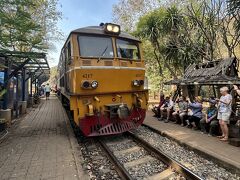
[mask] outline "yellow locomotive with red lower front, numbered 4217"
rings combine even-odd
[[[119,134],[146,116],[141,42],[105,23],[70,33],[60,55],[58,89],[85,136]]]

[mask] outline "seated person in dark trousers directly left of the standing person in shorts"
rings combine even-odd
[[[203,115],[203,118],[200,120],[200,126],[202,133],[206,134],[206,127],[210,127],[209,135],[213,135],[214,129],[218,126],[217,120],[217,108],[214,101],[209,101],[210,107],[207,108],[206,113]]]

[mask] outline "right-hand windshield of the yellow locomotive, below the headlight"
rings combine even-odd
[[[117,39],[117,55],[119,58],[139,60],[139,49],[137,42]]]

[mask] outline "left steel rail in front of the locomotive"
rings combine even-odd
[[[133,177],[128,173],[125,167],[119,162],[113,152],[108,148],[103,138],[98,138],[97,142],[101,145],[102,149],[104,149],[111,162],[115,165],[119,176],[124,180],[133,180]]]

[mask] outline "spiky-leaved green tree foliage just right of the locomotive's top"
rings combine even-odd
[[[135,33],[151,42],[158,68],[167,68],[174,78],[183,74],[187,64],[201,58],[197,49],[202,44],[187,40],[186,25],[187,18],[176,6],[161,7],[142,16]]]

